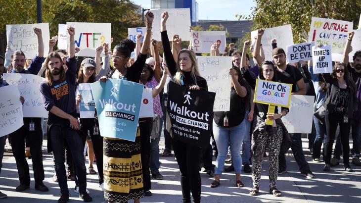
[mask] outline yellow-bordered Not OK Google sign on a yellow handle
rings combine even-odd
[[[289,107],[292,84],[257,79],[253,102]]]

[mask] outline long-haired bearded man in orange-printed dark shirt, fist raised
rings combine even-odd
[[[55,171],[58,178],[61,197],[58,203],[66,203],[69,200],[66,171],[64,166],[64,141],[67,142],[73,154],[75,168],[77,170],[79,197],[84,202],[91,202],[87,194],[86,167],[83,157],[83,140],[78,134],[80,129],[75,108],[75,92],[77,73],[74,28],[68,28],[69,33],[69,57],[67,58],[68,70],[65,73],[61,63],[62,59],[57,52],[51,52],[46,57],[45,78],[40,85],[43,95],[44,107],[49,111],[48,117],[48,150],[52,150],[55,158]],[[51,147],[51,149],[49,149]]]

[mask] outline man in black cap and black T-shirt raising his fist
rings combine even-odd
[[[262,35],[264,33],[265,29],[258,30],[257,41],[260,42],[256,43],[255,49],[253,51],[253,55],[255,56],[258,64],[262,64],[262,62],[265,60],[263,57],[261,57],[260,46],[258,46],[261,44]],[[303,76],[295,66],[286,63],[286,53],[284,50],[282,48],[273,49],[272,57],[277,67],[276,73],[278,82],[292,84],[292,95],[306,95],[306,86],[303,80]],[[305,159],[305,155],[303,154],[301,133],[290,133],[290,136],[292,137],[291,150],[298,164],[301,175],[307,178],[315,178],[315,175],[311,172],[310,166]],[[279,153],[278,159],[278,174],[280,175],[285,173],[287,168],[285,154]]]

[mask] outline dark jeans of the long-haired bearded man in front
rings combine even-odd
[[[75,168],[77,170],[76,173],[79,183],[79,192],[81,194],[86,194],[87,170],[83,156],[83,138],[76,130],[70,128],[68,122],[64,123],[65,124],[60,122],[54,123],[49,129],[51,147],[55,158],[55,171],[59,181],[60,192],[61,194],[69,193],[64,165],[64,145],[66,142],[72,152]]]

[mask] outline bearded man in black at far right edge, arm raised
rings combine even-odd
[[[348,71],[351,74],[352,79],[356,83],[357,87],[357,98],[358,98],[358,108],[354,113],[353,122],[352,122],[352,163],[356,166],[361,166],[360,162],[360,145],[361,145],[361,50],[356,51],[353,60],[354,67],[349,63],[349,53],[352,51],[351,42],[354,38],[355,32],[349,32],[349,37],[346,42],[344,49],[344,54],[342,62],[347,65]]]

